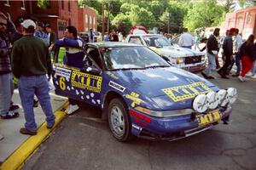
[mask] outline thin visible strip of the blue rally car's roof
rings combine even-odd
[[[95,45],[97,48],[116,48],[116,47],[144,47],[135,43],[126,42],[92,42],[87,43],[88,45]]]

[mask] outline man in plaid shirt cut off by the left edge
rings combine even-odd
[[[13,105],[12,95],[14,84],[11,70],[11,37],[15,34],[15,26],[10,16],[0,12],[0,116],[10,119],[19,116],[15,110],[18,105]]]

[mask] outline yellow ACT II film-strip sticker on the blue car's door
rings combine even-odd
[[[73,71],[71,84],[73,87],[84,88],[96,93],[100,93],[102,88],[102,77],[93,76],[84,72]]]

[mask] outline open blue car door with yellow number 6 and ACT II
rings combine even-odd
[[[66,65],[67,50],[83,52],[82,68]],[[52,74],[55,94],[101,105],[102,70],[83,48],[56,48]]]

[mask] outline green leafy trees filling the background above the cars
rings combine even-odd
[[[256,5],[253,0],[238,1],[243,7]],[[197,27],[218,26],[224,20],[225,14],[236,8],[236,2],[236,0],[109,0],[109,11],[112,27],[125,26],[124,22],[127,22],[127,26],[142,25],[148,29],[159,27],[161,31],[168,31],[169,24],[171,32],[179,32],[183,27],[194,31]],[[79,5],[95,8],[98,14],[102,15],[102,0],[82,0],[79,1]],[[104,8],[106,17],[108,0],[104,1]],[[100,16],[98,29],[101,27]],[[128,29],[130,30],[131,26]]]

